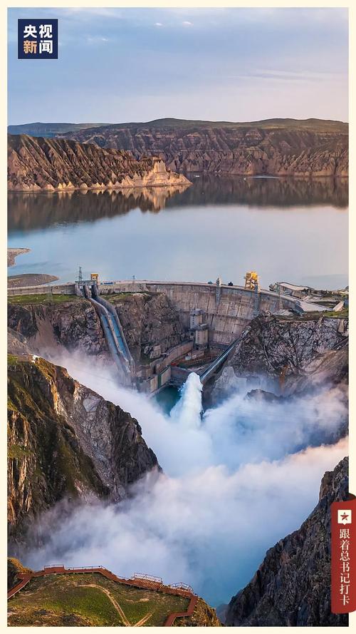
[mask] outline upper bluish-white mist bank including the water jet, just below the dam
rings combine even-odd
[[[344,395],[335,387],[320,387],[287,402],[265,402],[246,399],[248,388],[243,386],[207,410],[201,421],[201,385],[196,374],[189,376],[181,401],[167,416],[155,399],[118,386],[115,372],[93,364],[92,358],[66,354],[52,359],[80,383],[130,411],[140,421],[159,464],[172,477],[211,465],[224,464],[233,471],[247,462],[281,459],[310,444],[333,439],[347,416]]]

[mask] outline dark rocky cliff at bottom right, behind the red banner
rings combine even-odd
[[[248,586],[229,603],[226,625],[347,625],[330,612],[330,504],[347,499],[348,459],[327,471],[320,500],[298,531],[266,553]]]

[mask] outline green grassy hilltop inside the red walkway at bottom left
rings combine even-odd
[[[145,616],[145,625],[164,625],[172,612],[185,612],[189,599],[125,586],[99,573],[49,575],[31,580],[28,586],[9,601],[9,625],[124,625],[108,590],[122,608],[127,620],[135,625]]]

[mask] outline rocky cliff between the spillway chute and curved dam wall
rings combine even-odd
[[[150,357],[157,345],[164,353],[187,339],[179,315],[164,293],[121,293],[105,298],[115,306],[137,361]]]

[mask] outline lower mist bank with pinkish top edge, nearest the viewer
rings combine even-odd
[[[43,518],[44,546],[21,553],[33,568],[100,563],[119,576],[135,572],[184,581],[209,603],[228,601],[250,580],[266,550],[300,526],[318,501],[320,479],[347,454],[347,442],[280,461],[245,464],[230,474],[211,466],[179,479],[137,484],[135,498],[61,506]]]

